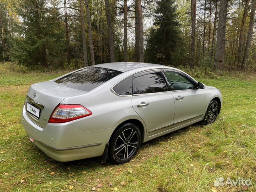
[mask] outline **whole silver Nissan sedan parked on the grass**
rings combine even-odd
[[[143,142],[214,122],[221,106],[220,90],[176,68],[107,63],[32,84],[21,122],[31,142],[57,161],[102,156],[118,164]]]

